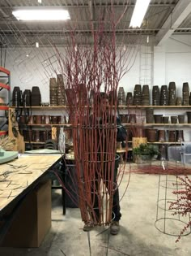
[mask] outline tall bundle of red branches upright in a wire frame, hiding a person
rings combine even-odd
[[[104,33],[105,23],[100,15],[99,26],[95,28],[91,24],[92,45],[87,44],[84,35],[79,37],[73,31],[65,53],[61,54],[56,48],[57,72],[64,76],[72,125],[79,208],[84,222],[99,225],[111,222],[112,197],[121,183],[118,180],[113,184],[117,148],[117,121],[113,116],[117,115],[119,81],[128,72],[130,52],[136,49],[127,47],[124,50],[122,41],[117,44],[116,27],[125,10],[116,17],[111,1],[105,11],[110,17],[107,23],[110,33]],[[109,96],[107,115],[101,110],[102,92]],[[98,210],[100,219],[96,219]]]

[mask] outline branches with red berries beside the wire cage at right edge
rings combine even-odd
[[[175,202],[170,202],[169,210],[174,211],[172,215],[188,216],[191,214],[191,180],[188,176],[178,176],[178,179],[182,189],[172,192],[177,195],[177,199]],[[191,221],[180,231],[180,236],[178,236],[176,242],[180,241],[180,237],[185,234],[188,228],[191,228]]]

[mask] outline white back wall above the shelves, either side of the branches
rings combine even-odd
[[[142,53],[144,54],[144,49],[138,47],[134,56],[129,58],[129,67],[133,67],[120,83],[125,92],[133,91],[134,85],[140,83],[140,76],[144,76]],[[152,85],[168,85],[170,81],[175,81],[176,94],[181,97],[182,83],[187,81],[191,85],[191,36],[173,36],[163,46],[150,47],[149,53],[152,53],[153,59],[146,66],[145,84],[149,84],[151,88]],[[7,50],[6,68],[11,70],[11,89],[14,86],[19,86],[22,90],[39,86],[42,102],[49,102],[49,77],[55,76],[49,61],[56,61],[51,48]],[[152,76],[149,79],[147,75],[151,67],[153,71],[149,72]]]

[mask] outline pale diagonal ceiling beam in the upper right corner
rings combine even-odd
[[[172,33],[180,26],[185,18],[191,12],[191,1],[184,0],[179,1],[172,13],[168,16],[168,19],[164,22],[163,27],[159,30],[155,37],[155,43],[157,46],[163,44]]]

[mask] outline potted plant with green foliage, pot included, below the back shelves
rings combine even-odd
[[[147,163],[158,154],[159,150],[155,145],[140,144],[133,149],[134,163]]]

